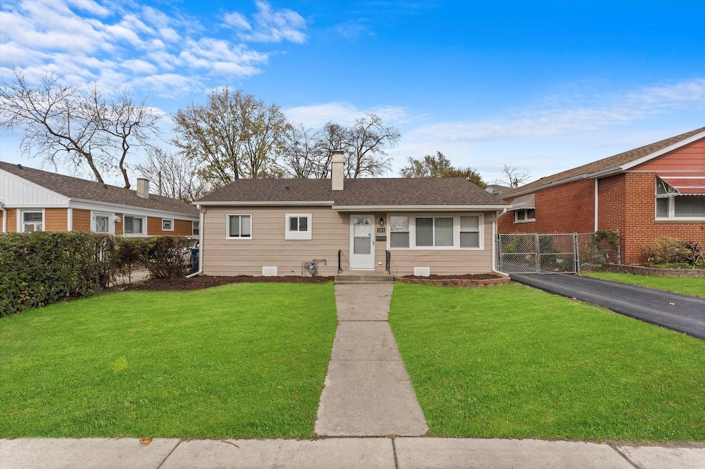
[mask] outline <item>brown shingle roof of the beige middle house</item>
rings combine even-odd
[[[332,201],[336,206],[504,205],[462,177],[346,179],[342,191],[329,179],[238,180],[198,202]]]

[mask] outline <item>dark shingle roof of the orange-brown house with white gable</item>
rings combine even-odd
[[[149,194],[149,199],[143,199],[137,195],[137,191],[125,189],[124,187],[104,186],[100,182],[49,173],[48,171],[27,168],[26,166],[22,166],[20,169],[18,165],[11,163],[0,162],[0,169],[22,177],[30,182],[34,182],[42,187],[46,187],[54,192],[58,192],[70,199],[83,199],[87,201],[103,202],[105,204],[151,208],[152,210],[181,213],[189,216],[198,215],[198,211],[194,206],[169,197]]]

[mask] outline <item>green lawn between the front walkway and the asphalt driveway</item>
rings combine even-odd
[[[443,437],[705,440],[705,341],[519,284],[396,284],[390,322]]]

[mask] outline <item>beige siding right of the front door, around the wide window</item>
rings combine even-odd
[[[493,242],[492,222],[494,218],[494,212],[484,212],[484,250],[393,249],[390,251],[391,272],[394,275],[414,275],[415,267],[429,267],[431,269],[431,275],[462,275],[491,272]],[[379,217],[377,220],[379,220]],[[381,252],[381,259],[378,260],[384,262],[384,249]]]

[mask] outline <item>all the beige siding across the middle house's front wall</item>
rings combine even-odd
[[[252,239],[226,239],[226,215],[252,214]],[[286,213],[312,214],[312,239],[284,239]],[[359,213],[369,215],[370,213]],[[374,235],[379,218],[372,213]],[[431,274],[487,273],[492,269],[492,221],[494,212],[484,213],[484,250],[434,249],[391,251],[392,273],[412,275],[414,267],[430,267]],[[337,213],[329,207],[209,207],[203,223],[203,270],[205,275],[262,275],[263,265],[276,265],[278,275],[301,275],[301,263],[326,259],[318,275],[336,275],[338,249],[343,251],[343,267],[350,258],[350,213]],[[388,231],[388,230],[385,230]],[[386,241],[375,243],[375,269],[385,268]]]

